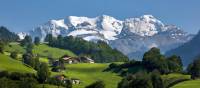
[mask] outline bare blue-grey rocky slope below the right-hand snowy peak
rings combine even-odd
[[[164,31],[158,31],[158,33],[151,36],[138,35],[127,29],[123,29],[118,39],[110,41],[110,45],[131,58],[140,59],[143,53],[152,47],[158,47],[162,53],[165,53],[170,49],[182,45],[193,37],[193,35],[183,32],[176,26],[165,25],[163,28],[165,28]]]

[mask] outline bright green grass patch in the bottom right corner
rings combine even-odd
[[[189,80],[181,82],[172,88],[200,88],[200,80]]]

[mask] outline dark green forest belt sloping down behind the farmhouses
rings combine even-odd
[[[68,49],[77,55],[90,56],[95,62],[123,62],[128,61],[128,57],[116,49],[112,49],[103,41],[88,42],[82,38],[73,36],[61,36],[57,38],[48,34],[45,38],[49,46]]]

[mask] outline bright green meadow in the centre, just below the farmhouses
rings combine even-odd
[[[82,81],[81,84],[74,85],[74,88],[84,88],[96,80],[103,80],[106,83],[106,88],[117,88],[117,84],[122,78],[112,72],[103,72],[108,65],[97,63],[68,64],[64,74],[70,78],[78,78]]]

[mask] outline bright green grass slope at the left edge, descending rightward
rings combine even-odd
[[[0,71],[2,70],[7,70],[9,72],[35,73],[35,70],[23,65],[22,62],[0,54]]]

